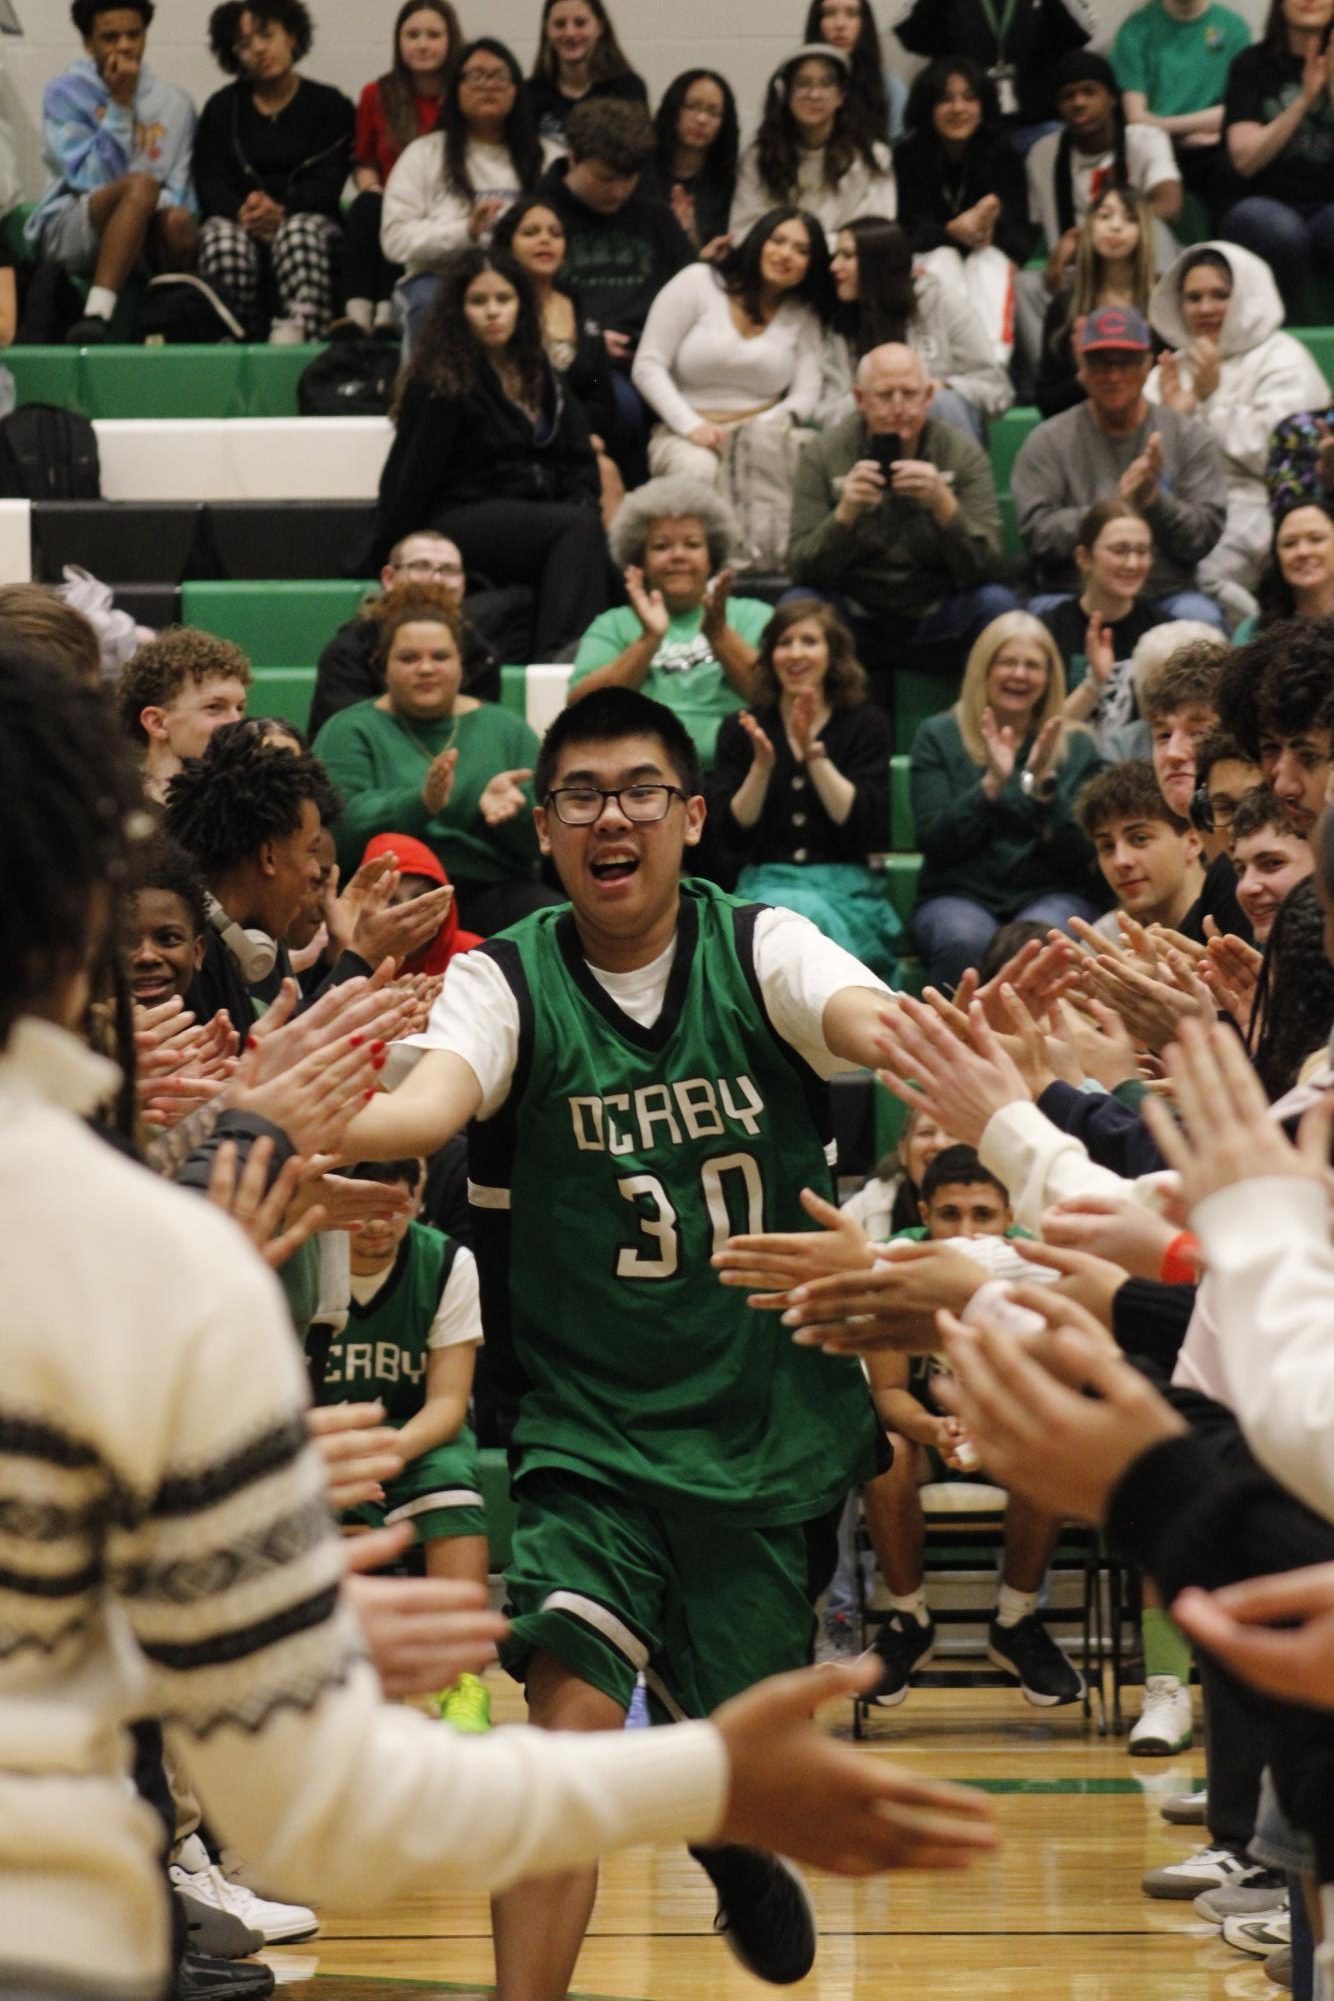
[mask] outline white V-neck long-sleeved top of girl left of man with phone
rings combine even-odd
[[[704,422],[704,410],[772,404],[768,418],[802,422],[820,392],[820,322],[810,306],[786,300],[746,340],[712,264],[686,264],[648,308],[630,376],[682,438]]]

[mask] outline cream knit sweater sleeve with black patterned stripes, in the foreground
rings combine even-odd
[[[148,1413],[162,1473],[120,1485],[108,1565],[224,1839],[324,1907],[434,1887],[442,1867],[488,1891],[624,1843],[706,1839],[726,1797],[706,1723],[468,1741],[380,1701],[272,1281],[248,1255],[214,1281]]]

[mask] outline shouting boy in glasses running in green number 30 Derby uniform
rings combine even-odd
[[[570,908],[456,960],[426,1055],[354,1123],[360,1155],[474,1121],[488,1353],[512,1403],[518,1525],[506,1665],[548,1729],[702,1715],[810,1657],[810,1535],[874,1469],[856,1367],[724,1291],[738,1231],[810,1227],[830,1191],[824,1083],[882,1061],[886,988],[788,910],[682,880],[704,828],[694,746],[608,688],[548,730],[538,834]],[[814,1959],[794,1871],[696,1849],[716,1929],[760,1977]],[[558,2001],[596,1873],[494,1905],[500,2001]]]

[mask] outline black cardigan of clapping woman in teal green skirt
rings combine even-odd
[[[738,716],[718,730],[714,768],[706,780],[710,818],[736,866],[744,862],[864,862],[890,844],[890,724],[874,702],[830,710],[820,740],[844,778],[856,786],[852,812],[838,826],[806,768],[796,762],[778,708],[754,718],[774,746],[774,776],[754,826],[732,818],[732,794],[750,770],[750,736]]]

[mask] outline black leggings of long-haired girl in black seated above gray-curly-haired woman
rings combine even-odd
[[[606,610],[606,536],[592,502],[476,500],[442,508],[430,526],[458,542],[468,572],[532,586],[534,660],[554,660]]]

